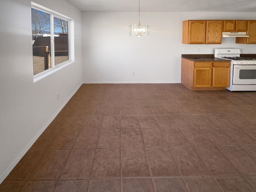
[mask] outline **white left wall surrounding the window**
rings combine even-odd
[[[82,12],[34,2],[74,19],[75,62],[34,83],[31,1],[0,1],[0,183],[82,84]]]

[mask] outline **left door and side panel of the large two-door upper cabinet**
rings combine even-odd
[[[182,43],[205,44],[206,21],[186,20],[183,21]]]

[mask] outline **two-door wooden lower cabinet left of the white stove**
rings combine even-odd
[[[182,58],[181,82],[190,90],[225,90],[230,62],[194,62]]]

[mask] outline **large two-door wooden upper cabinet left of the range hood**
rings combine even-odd
[[[222,20],[183,21],[182,43],[184,44],[221,44]]]

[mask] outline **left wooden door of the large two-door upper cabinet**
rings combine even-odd
[[[205,43],[205,20],[189,21],[188,44],[204,44]]]

